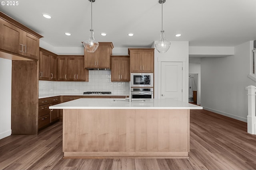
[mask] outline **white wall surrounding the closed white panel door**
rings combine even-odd
[[[182,87],[182,101],[188,102],[188,41],[171,41],[170,49],[166,53],[158,53],[155,49],[154,57],[154,97],[158,98],[161,90],[161,87],[158,87],[158,82],[161,81],[161,77],[158,76],[158,60],[161,60],[160,58],[164,57],[167,57],[170,60],[173,59],[173,61],[185,59],[185,66],[183,67],[185,76],[182,77],[182,82],[185,82]]]

